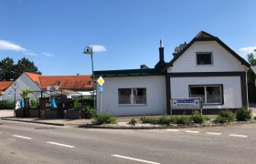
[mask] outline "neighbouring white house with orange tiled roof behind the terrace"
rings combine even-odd
[[[43,76],[25,72],[15,81],[18,85],[16,93],[9,86],[5,90],[3,99],[14,101],[21,98],[22,89],[30,88],[33,93],[28,97],[48,97],[50,94],[62,94],[67,97],[92,97],[93,83],[91,76]],[[59,87],[59,91],[50,92],[48,87]]]

